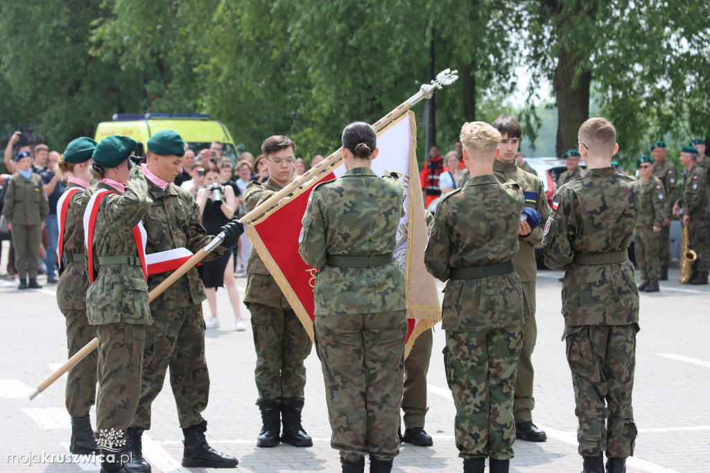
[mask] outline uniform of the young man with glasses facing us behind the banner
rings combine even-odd
[[[244,190],[244,209],[251,212],[281,189],[271,178],[266,183],[252,181]],[[306,384],[303,360],[310,354],[312,343],[256,248],[251,251],[246,273],[244,304],[251,312],[256,349],[257,403],[302,399]]]

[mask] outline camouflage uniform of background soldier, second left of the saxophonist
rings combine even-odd
[[[660,278],[660,232],[654,233],[653,227],[662,228],[663,219],[669,216],[667,200],[663,184],[657,177],[652,175],[641,182],[641,206],[633,237],[636,262],[644,283],[657,283]]]

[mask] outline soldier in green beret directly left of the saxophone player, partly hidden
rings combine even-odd
[[[660,266],[659,281],[668,281],[668,266],[670,266],[670,218],[673,204],[678,197],[678,171],[675,165],[666,159],[666,144],[656,141],[651,145],[653,161],[653,175],[657,177],[665,192],[665,205],[667,217],[661,222],[661,231],[658,234],[658,264]]]

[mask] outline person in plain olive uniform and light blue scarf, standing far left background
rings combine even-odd
[[[49,214],[42,178],[32,172],[32,155],[21,151],[16,158],[16,173],[10,179],[2,213],[12,232],[15,270],[20,278],[18,289],[41,289],[37,283],[39,247],[42,230]],[[30,277],[29,284],[27,276]]]

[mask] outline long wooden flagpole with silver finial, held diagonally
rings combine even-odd
[[[442,72],[439,72],[436,79],[432,80],[431,84],[423,84],[416,94],[406,99],[391,112],[376,121],[373,124],[373,128],[375,129],[375,131],[381,131],[382,129],[384,129],[386,126],[388,126],[388,124],[391,124],[399,116],[407,112],[410,108],[414,107],[417,103],[421,102],[422,99],[432,98],[436,89],[442,89],[442,87],[444,87],[445,85],[449,85],[455,82],[459,78],[457,74],[458,71],[452,71],[449,69],[444,69],[442,70]],[[293,181],[293,183],[290,183],[282,190],[276,192],[274,195],[262,202],[260,205],[257,205],[251,212],[244,215],[244,217],[241,217],[241,219],[239,219],[239,222],[246,225],[252,222],[253,220],[260,218],[263,214],[270,211],[272,207],[278,206],[280,200],[284,199],[285,197],[291,196],[294,192],[302,192],[302,190],[306,187],[305,184],[309,183],[310,180],[315,179],[324,173],[329,173],[334,168],[337,168],[337,166],[340,164],[340,161],[342,161],[342,156],[340,154],[340,150],[338,150],[332,153],[330,156],[325,158],[317,165],[315,165],[310,170],[307,170],[303,175],[300,176],[300,178],[297,178],[295,181]],[[165,281],[160,283],[158,286],[155,286],[155,288],[153,288],[153,290],[151,290],[151,292],[148,294],[150,302],[153,302],[153,300],[157,298],[158,295],[162,294],[163,291],[172,286],[175,281],[178,281],[178,279],[185,275],[187,271],[190,271],[193,266],[202,261],[205,256],[214,251],[214,249],[222,243],[223,239],[224,232],[221,232],[219,235],[217,235],[217,237],[214,237],[214,239],[212,239],[212,241],[210,241],[207,246],[204,247],[204,249],[197,251],[197,253],[192,255],[190,259],[185,261],[185,263],[182,263],[182,266],[173,271],[173,273],[171,273],[168,278],[165,278]],[[96,349],[98,346],[99,338],[95,337],[91,342],[84,345],[84,347],[80,349],[79,352],[77,352],[73,357],[65,361],[62,366],[60,366],[52,374],[43,379],[43,381],[40,382],[40,384],[38,384],[31,391],[31,393],[27,395],[27,397],[32,400],[39,396],[42,391],[44,391],[51,384],[57,381],[60,376],[62,376],[62,374],[65,374],[67,371],[69,371],[72,366],[75,366],[75,364],[79,363],[79,361],[86,357],[87,354],[94,351],[94,349]]]

